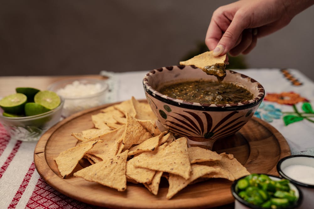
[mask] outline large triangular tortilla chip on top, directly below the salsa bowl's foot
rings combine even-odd
[[[144,152],[134,157],[134,165],[180,175],[185,179],[190,177],[191,165],[187,152],[187,138],[178,138],[164,149],[157,150],[156,154]]]

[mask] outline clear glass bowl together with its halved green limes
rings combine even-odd
[[[13,140],[37,141],[60,121],[63,104],[53,91],[19,87],[0,99],[0,123]]]

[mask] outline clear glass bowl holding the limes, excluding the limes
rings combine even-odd
[[[0,123],[13,140],[37,141],[42,134],[60,121],[63,104],[64,99],[61,98],[60,105],[49,112],[18,118],[3,116],[3,110],[0,108]]]

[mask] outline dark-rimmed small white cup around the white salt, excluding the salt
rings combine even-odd
[[[284,169],[290,165],[306,165],[314,167],[314,156],[310,155],[291,155],[287,156],[277,163],[278,173],[285,179],[290,180],[299,186],[303,193],[303,203],[300,208],[314,208],[314,185],[298,181],[284,173]],[[314,176],[313,176],[314,178]]]

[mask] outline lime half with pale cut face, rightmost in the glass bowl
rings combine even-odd
[[[55,109],[59,106],[61,100],[60,97],[53,91],[39,91],[35,97],[34,101],[50,110]]]

